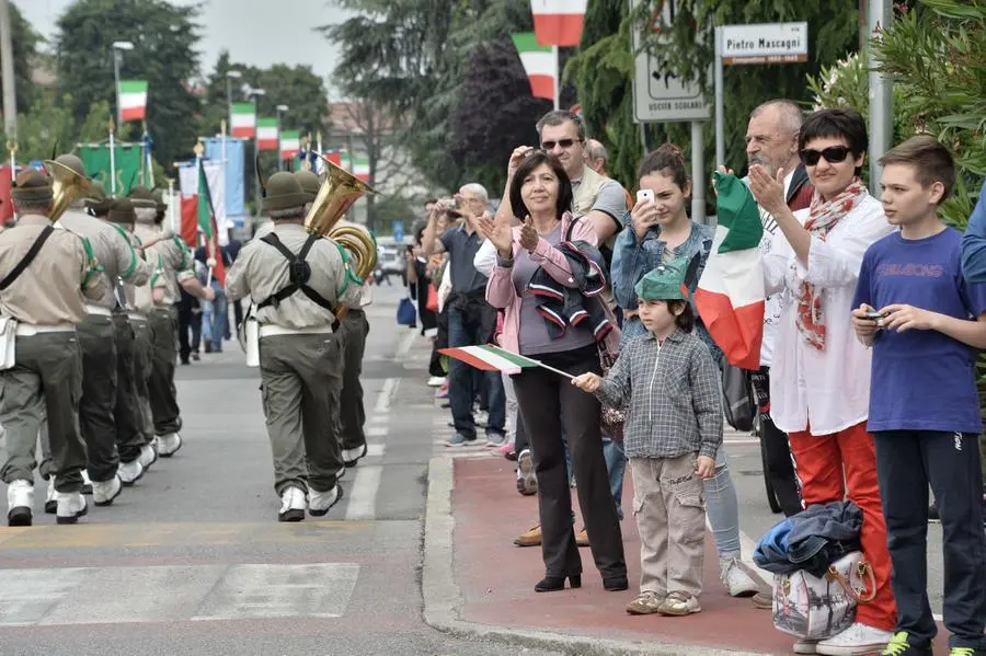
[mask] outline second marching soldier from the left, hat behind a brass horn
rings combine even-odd
[[[56,162],[83,179],[82,160],[62,154]],[[99,188],[91,194],[98,199]],[[140,444],[131,444],[134,436],[117,448],[116,393],[117,332],[116,309],[118,280],[141,285],[150,276],[150,267],[137,257],[129,240],[104,218],[98,218],[105,200],[91,204],[79,199],[66,210],[58,226],[83,237],[92,245],[93,254],[103,267],[106,292],[85,304],[88,315],[77,327],[82,346],[82,400],[79,403],[79,426],[89,452],[89,477],[92,480],[92,502],[107,506],[121,492],[121,484],[133,485],[144,473],[139,462]],[[108,211],[108,207],[105,207]],[[102,214],[105,216],[106,211]],[[125,317],[123,318],[126,319]]]

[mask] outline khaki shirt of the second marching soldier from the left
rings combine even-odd
[[[138,257],[130,240],[113,223],[92,217],[74,208],[66,211],[56,227],[61,227],[79,237],[84,237],[92,245],[96,260],[103,267],[108,291],[95,304],[113,310],[116,308],[117,280],[142,285],[150,278],[151,267]],[[119,299],[121,303],[125,299]]]

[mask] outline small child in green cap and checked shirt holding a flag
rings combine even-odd
[[[633,471],[640,533],[640,595],[630,614],[701,611],[706,509],[702,480],[715,474],[722,444],[719,369],[691,333],[685,267],[662,264],[637,284],[647,334],[630,342],[601,378],[572,384],[615,407],[629,405],[623,449]]]

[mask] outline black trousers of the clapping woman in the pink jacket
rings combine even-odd
[[[596,347],[567,354],[544,355],[544,364],[573,376],[601,372]],[[572,523],[572,491],[565,467],[562,426],[569,436],[578,505],[588,531],[593,560],[604,578],[627,575],[623,538],[617,517],[609,476],[603,458],[599,402],[547,369],[524,369],[513,377],[517,404],[531,442],[538,479],[538,513],[541,520],[541,555],[548,576],[582,573]]]

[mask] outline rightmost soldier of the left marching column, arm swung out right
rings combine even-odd
[[[164,280],[164,295],[148,317],[153,358],[148,380],[151,413],[158,454],[170,458],[182,448],[181,408],[174,387],[174,368],[177,364],[175,348],[177,335],[179,285],[192,296],[204,300],[215,298],[213,290],[203,287],[192,271],[193,260],[188,246],[180,237],[169,235],[161,227],[164,212],[159,211],[150,189],[135,186],[130,189],[130,203],[137,212],[135,233],[144,243],[145,255],[154,267],[151,288],[159,278]],[[160,217],[160,218],[159,218]]]

